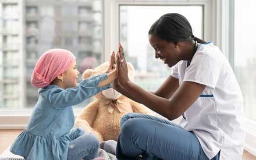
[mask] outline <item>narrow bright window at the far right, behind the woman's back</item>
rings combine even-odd
[[[235,1],[234,5],[234,72],[243,93],[245,115],[256,120],[256,1]]]

